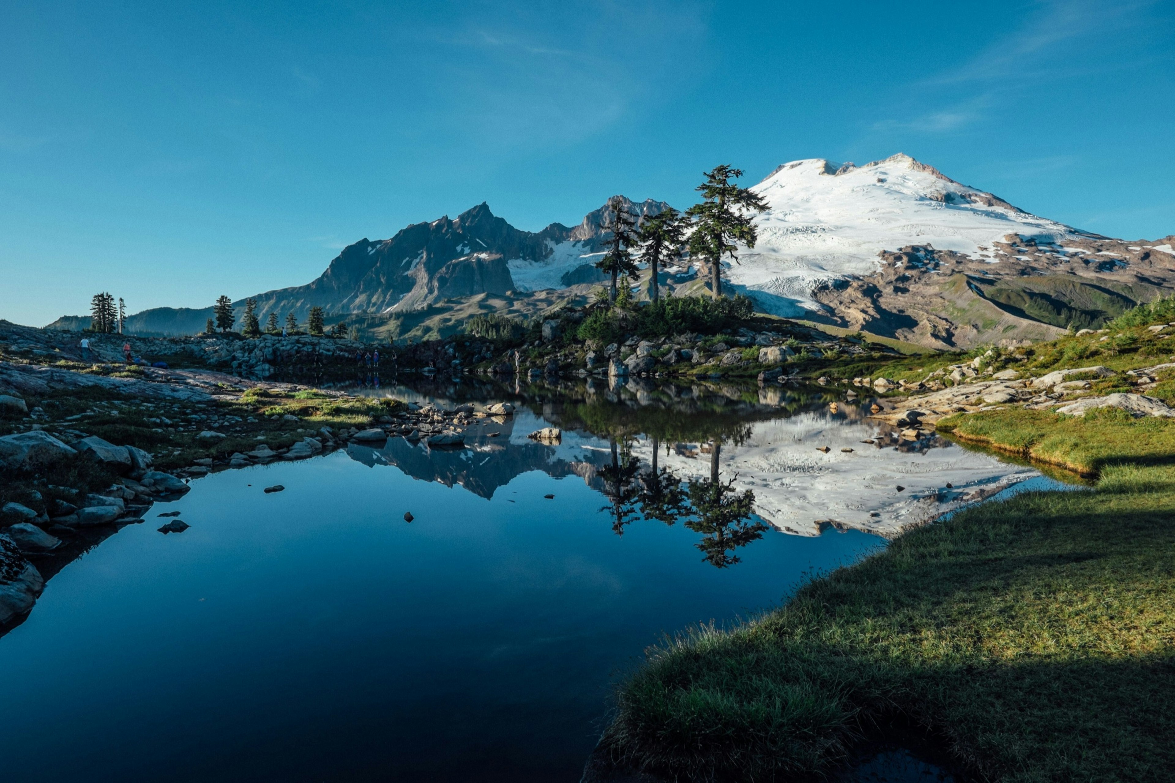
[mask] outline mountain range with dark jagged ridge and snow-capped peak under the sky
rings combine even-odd
[[[731,290],[768,314],[955,348],[1047,339],[1069,323],[1099,324],[1175,292],[1169,239],[1127,242],[1039,218],[902,153],[862,166],[791,161],[751,189],[770,208],[754,218],[757,246],[741,248],[737,263],[724,261],[724,275]],[[638,221],[669,206],[615,198]],[[539,312],[550,307],[549,294],[583,297],[603,280],[593,265],[603,253],[605,208],[576,226],[525,232],[483,201],[456,219],[412,223],[387,240],[364,237],[309,283],[255,296],[258,316],[277,313],[284,321],[293,312],[304,320],[320,306],[335,316],[362,314],[367,323],[470,297],[509,300],[513,312],[525,312],[522,300],[546,292]],[[666,292],[704,293],[697,267],[685,260],[664,270]],[[239,314],[243,306],[234,302]],[[202,329],[210,314],[153,308],[127,326],[183,334]]]

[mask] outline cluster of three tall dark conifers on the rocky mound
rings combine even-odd
[[[657,302],[660,299],[659,270],[682,257],[686,249],[690,257],[710,268],[711,294],[714,299],[721,297],[723,259],[728,256],[738,263],[738,242],[754,247],[758,234],[751,221],[767,208],[763,196],[733,182],[740,176],[741,169],[717,166],[705,173],[705,181],[697,187],[701,193],[699,203],[685,214],[670,207],[645,219],[639,227],[619,198],[609,200],[602,227],[610,236],[604,240],[604,255],[596,262],[596,267],[611,277],[609,304],[617,303],[619,281],[636,275],[640,261],[649,265],[649,297]],[[640,248],[636,257],[634,248]],[[619,295],[624,293],[622,289]]]

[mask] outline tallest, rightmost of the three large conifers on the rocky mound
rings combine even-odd
[[[710,290],[719,299],[723,295],[723,256],[730,255],[738,263],[734,242],[754,247],[758,232],[751,222],[752,213],[764,212],[767,205],[758,193],[731,182],[743,176],[741,169],[717,166],[705,176],[706,181],[696,188],[701,193],[701,203],[686,210],[694,220],[690,255],[710,265]]]

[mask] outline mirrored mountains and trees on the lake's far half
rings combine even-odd
[[[466,434],[468,454],[434,459],[438,453],[427,446],[397,440],[384,461],[486,497],[525,470],[576,474],[607,497],[617,533],[640,517],[682,521],[707,537],[711,549],[703,551],[716,566],[737,562],[733,548],[754,541],[765,524],[799,535],[827,527],[895,535],[1038,475],[934,434],[902,436],[868,417],[873,399],[846,399],[835,387],[654,379],[410,382],[350,389],[442,408],[504,400],[518,413],[483,420]],[[546,426],[563,429],[560,444],[525,439]]]

